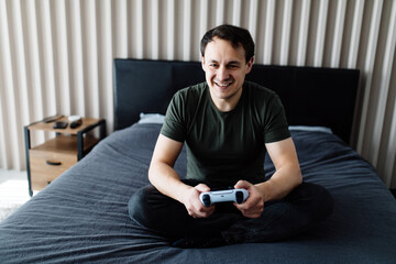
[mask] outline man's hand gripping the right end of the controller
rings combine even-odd
[[[248,199],[239,205],[234,202],[234,206],[242,212],[246,218],[260,218],[264,211],[264,197],[260,190],[246,180],[239,180],[235,186],[235,189],[246,189],[249,193]]]

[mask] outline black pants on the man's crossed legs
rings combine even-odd
[[[199,184],[196,180],[184,183],[190,186]],[[323,187],[302,183],[284,199],[266,202],[257,219],[243,217],[232,202],[217,204],[209,218],[195,219],[183,204],[150,185],[131,197],[129,213],[139,224],[169,240],[221,233],[228,243],[233,244],[292,238],[326,219],[332,205],[332,198]]]

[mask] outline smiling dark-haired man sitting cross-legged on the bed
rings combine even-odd
[[[294,237],[332,211],[329,193],[302,183],[277,96],[245,81],[254,42],[246,30],[220,25],[201,41],[206,82],[178,91],[169,103],[152,157],[151,186],[135,193],[130,217],[178,248],[208,248]],[[173,168],[187,145],[187,175]],[[268,153],[276,172],[264,178]],[[302,183],[302,184],[301,184]],[[243,204],[205,207],[202,191],[243,188]]]

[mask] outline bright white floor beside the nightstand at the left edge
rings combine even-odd
[[[28,186],[26,172],[0,169],[0,221],[31,198]]]

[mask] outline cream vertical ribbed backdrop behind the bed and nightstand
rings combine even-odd
[[[352,147],[396,187],[392,0],[0,0],[0,167],[25,168],[23,127],[47,116],[112,132],[113,58],[199,61],[222,23],[250,30],[257,64],[360,69]]]

